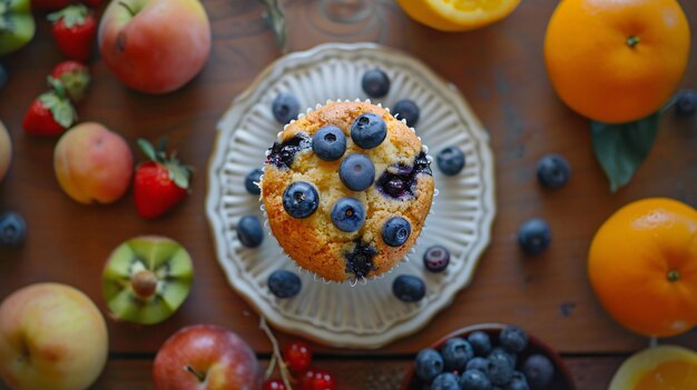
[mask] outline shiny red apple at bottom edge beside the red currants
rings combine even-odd
[[[184,328],[155,357],[156,390],[258,390],[262,368],[237,334],[209,324]]]

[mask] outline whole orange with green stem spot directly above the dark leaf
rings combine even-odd
[[[544,60],[557,93],[590,119],[634,121],[660,109],[687,67],[689,24],[676,0],[562,0]]]

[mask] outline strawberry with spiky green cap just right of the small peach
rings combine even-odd
[[[136,168],[134,178],[136,209],[143,218],[155,218],[186,197],[193,169],[183,166],[177,160],[176,152],[167,157],[165,139],[159,142],[157,151],[144,139],[138,140],[138,147],[147,161]]]

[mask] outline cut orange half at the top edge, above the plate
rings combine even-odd
[[[513,12],[520,0],[397,0],[412,19],[441,31],[467,31]]]

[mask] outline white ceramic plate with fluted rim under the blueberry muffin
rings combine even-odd
[[[258,198],[245,191],[244,179],[263,166],[265,151],[282,129],[271,112],[273,99],[292,92],[308,108],[327,99],[363,100],[367,97],[361,77],[375,67],[390,76],[392,87],[384,99],[373,102],[390,108],[401,99],[414,100],[421,108],[416,134],[430,154],[455,144],[467,158],[465,169],[452,178],[432,164],[440,194],[412,261],[383,279],[351,287],[301,272],[273,237],[257,249],[242,247],[235,231],[238,219],[249,213],[264,218]],[[208,168],[206,211],[230,286],[275,327],[333,347],[375,349],[424,327],[469,284],[489,243],[494,208],[489,137],[462,96],[421,62],[372,43],[323,44],[274,62],[223,116]],[[421,259],[436,243],[450,250],[451,262],[444,272],[430,273]],[[277,299],[266,287],[268,274],[282,268],[301,273],[303,288],[292,299]],[[392,281],[402,273],[425,281],[426,297],[419,303],[404,303],[392,294]]]

